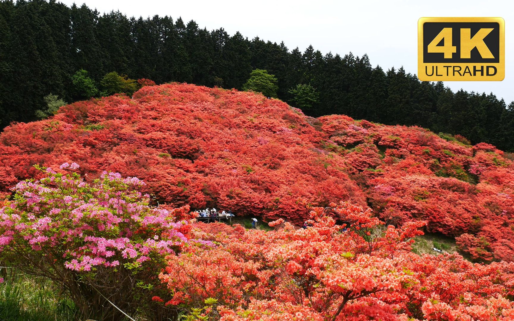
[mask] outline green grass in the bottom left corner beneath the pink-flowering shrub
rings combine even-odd
[[[74,320],[75,305],[49,280],[9,272],[3,274],[5,282],[0,285],[0,320]]]

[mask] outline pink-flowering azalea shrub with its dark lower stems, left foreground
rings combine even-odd
[[[163,255],[194,242],[182,233],[188,223],[175,222],[189,208],[151,207],[135,177],[105,172],[87,183],[76,163],[35,167],[42,178],[18,183],[0,209],[0,260],[53,280],[85,318],[119,317],[104,297],[135,311]]]

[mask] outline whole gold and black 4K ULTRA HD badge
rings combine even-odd
[[[419,19],[419,80],[502,81],[504,78],[503,18]]]

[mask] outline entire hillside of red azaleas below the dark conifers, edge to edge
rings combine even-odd
[[[302,223],[351,201],[389,223],[425,220],[472,258],[514,260],[514,164],[492,145],[299,109],[257,93],[147,86],[61,107],[0,135],[0,189],[59,170],[136,176],[155,202]],[[336,217],[342,221],[345,217]]]

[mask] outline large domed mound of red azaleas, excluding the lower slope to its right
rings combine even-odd
[[[314,148],[322,134],[305,116],[260,94],[146,86],[133,99],[77,102],[52,119],[16,126],[24,129],[0,135],[4,189],[38,175],[32,164],[55,167],[64,158],[92,177],[104,169],[139,177],[156,201],[193,209],[299,222],[312,205],[365,205],[342,158]]]

